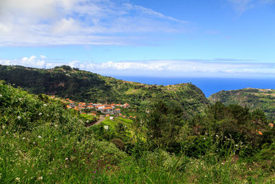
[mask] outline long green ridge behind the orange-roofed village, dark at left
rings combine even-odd
[[[174,102],[186,114],[202,112],[209,101],[191,83],[147,85],[100,76],[63,65],[50,70],[0,65],[0,79],[34,94],[56,94],[74,101],[130,103],[147,109],[157,99]]]

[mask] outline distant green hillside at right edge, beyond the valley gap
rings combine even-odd
[[[225,105],[238,104],[251,110],[261,109],[270,119],[275,119],[275,90],[245,88],[221,91],[208,98],[212,103],[221,101]]]

